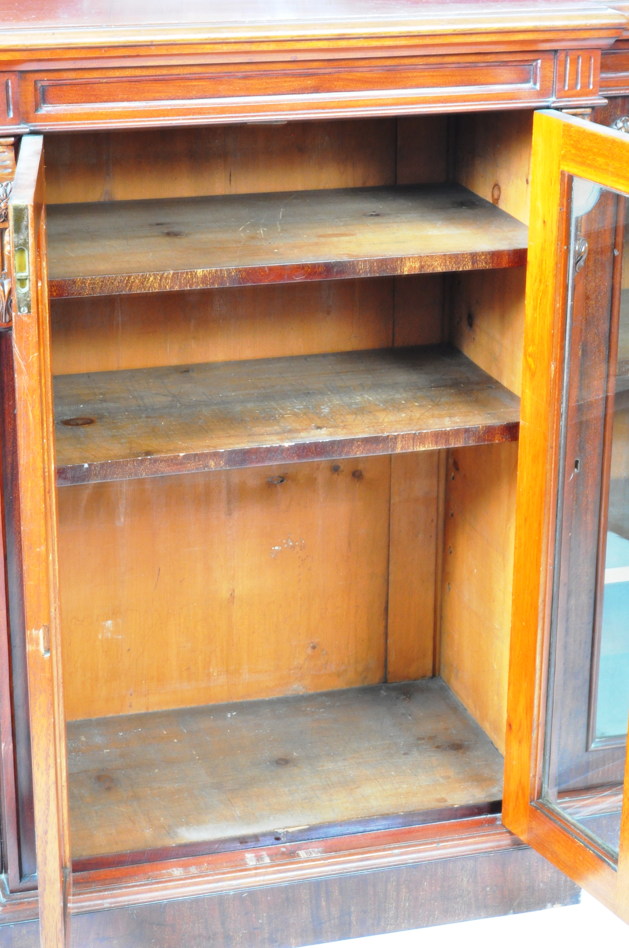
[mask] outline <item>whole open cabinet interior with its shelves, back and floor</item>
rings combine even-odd
[[[499,806],[531,127],[45,137],[77,865]]]

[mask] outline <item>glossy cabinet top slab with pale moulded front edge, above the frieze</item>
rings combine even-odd
[[[409,44],[426,51],[609,46],[623,4],[593,0],[9,0],[2,59],[110,57],[333,43]],[[624,4],[629,12],[629,4]]]

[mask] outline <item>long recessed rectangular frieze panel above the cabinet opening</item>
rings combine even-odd
[[[290,57],[204,66],[82,69],[23,74],[22,118],[32,128],[110,128],[184,121],[435,111],[552,99],[550,52],[500,55]],[[231,58],[230,58],[231,59]],[[591,95],[591,93],[590,93]]]

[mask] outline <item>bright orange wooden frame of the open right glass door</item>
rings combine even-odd
[[[570,175],[626,193],[629,137],[562,113],[535,113],[502,818],[506,827],[629,921],[629,767],[618,869],[585,832],[539,802],[561,477]]]

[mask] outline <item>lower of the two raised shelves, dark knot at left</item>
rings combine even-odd
[[[457,349],[249,359],[54,379],[57,481],[514,441],[519,399]]]

